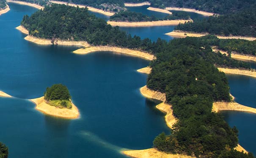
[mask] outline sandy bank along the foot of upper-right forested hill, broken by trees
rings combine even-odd
[[[165,33],[165,35],[169,35],[172,37],[201,37],[208,35],[207,33],[193,33],[193,32],[183,32],[183,31],[172,31]],[[256,40],[256,37],[242,37],[242,36],[218,36],[220,39],[243,39],[243,40]]]

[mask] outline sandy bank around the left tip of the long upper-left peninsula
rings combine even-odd
[[[20,32],[28,35],[28,30],[25,29],[24,27],[18,26],[18,27],[16,27],[16,29],[18,29]],[[26,36],[24,39],[28,40],[30,42],[36,43],[36,44],[40,44],[40,45],[55,44],[55,45],[65,45],[65,46],[84,46],[84,47],[90,46],[85,41],[69,41],[69,40],[58,40],[58,39],[55,39],[54,41],[52,41],[50,39],[41,39],[41,38],[33,37],[30,35]]]

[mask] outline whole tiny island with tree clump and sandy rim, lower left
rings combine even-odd
[[[47,87],[44,96],[30,99],[36,104],[36,109],[61,118],[78,118],[79,111],[71,102],[71,96],[66,86],[55,84]]]

